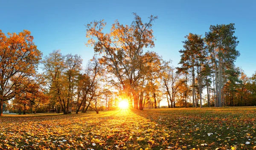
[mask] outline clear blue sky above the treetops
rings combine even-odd
[[[60,49],[62,54],[81,55],[85,66],[94,51],[84,45],[84,25],[101,19],[107,29],[116,19],[130,25],[133,12],[144,21],[151,14],[158,16],[152,28],[157,41],[147,50],[172,59],[174,66],[187,34],[204,37],[210,25],[235,23],[241,54],[235,64],[248,76],[256,71],[255,0],[0,0],[0,29],[4,33],[29,30],[44,56]]]

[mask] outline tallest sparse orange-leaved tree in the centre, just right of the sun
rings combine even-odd
[[[146,62],[144,48],[154,47],[154,36],[151,29],[157,17],[150,16],[148,23],[134,13],[131,25],[122,25],[117,20],[110,33],[103,33],[104,20],[94,21],[87,25],[87,44],[94,45],[96,54],[101,55],[100,62],[108,72],[116,77],[124,91],[132,94],[134,108],[138,109],[139,92],[137,83],[140,79],[140,64]]]

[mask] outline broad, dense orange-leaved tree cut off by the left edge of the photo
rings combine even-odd
[[[35,74],[42,56],[30,31],[8,33],[8,36],[0,30],[0,116],[3,116],[3,103],[13,99],[23,81]]]

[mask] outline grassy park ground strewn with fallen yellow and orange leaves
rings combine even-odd
[[[0,149],[256,149],[256,107],[4,115],[0,122]]]

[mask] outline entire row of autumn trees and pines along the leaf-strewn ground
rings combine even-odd
[[[87,45],[95,51],[86,68],[77,54],[54,50],[42,57],[29,31],[6,36],[0,30],[0,115],[4,109],[99,113],[120,99],[138,110],[159,108],[161,101],[169,108],[256,104],[256,74],[247,77],[234,65],[240,54],[233,23],[211,25],[205,37],[189,33],[175,68],[145,51],[154,48],[156,19],[143,23],[134,13],[131,25],[116,20],[109,33],[104,20],[85,25]]]

